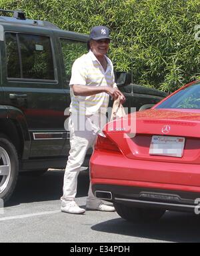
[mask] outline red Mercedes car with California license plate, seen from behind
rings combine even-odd
[[[90,161],[96,197],[128,221],[199,213],[200,81],[103,129]]]

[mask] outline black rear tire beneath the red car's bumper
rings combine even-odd
[[[137,208],[116,202],[114,202],[113,205],[119,216],[135,223],[157,221],[165,213],[163,209]]]

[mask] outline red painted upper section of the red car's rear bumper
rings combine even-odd
[[[128,159],[121,153],[94,151],[93,184],[125,185],[200,193],[200,165]]]

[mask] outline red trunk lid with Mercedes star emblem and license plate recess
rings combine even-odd
[[[135,120],[136,119],[136,120]],[[144,161],[163,161],[173,163],[200,163],[200,111],[177,111],[149,109],[129,115],[129,124],[123,125],[122,119],[109,123],[104,133],[114,141],[121,152],[129,159]],[[115,129],[121,122],[121,129]],[[110,129],[111,125],[114,127]],[[133,133],[135,126],[135,134]],[[181,155],[152,153],[153,136],[155,139],[183,139]]]

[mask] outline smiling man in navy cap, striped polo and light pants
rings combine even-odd
[[[69,118],[70,145],[69,158],[65,169],[61,211],[65,213],[85,213],[75,202],[77,176],[85,159],[87,149],[93,147],[97,134],[105,125],[109,95],[113,100],[125,97],[117,89],[114,81],[113,64],[106,56],[109,49],[109,29],[93,27],[90,33],[89,53],[73,63],[71,70],[71,105]],[[97,199],[89,187],[86,209],[115,211]]]

